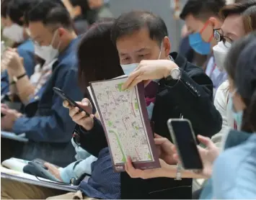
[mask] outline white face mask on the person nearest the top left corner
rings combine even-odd
[[[9,38],[14,42],[23,42],[24,39],[24,29],[18,24],[12,24],[10,27],[4,27],[3,30],[4,37]]]

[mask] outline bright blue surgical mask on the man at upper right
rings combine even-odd
[[[190,47],[200,55],[209,55],[211,53],[211,43],[203,41],[199,32],[195,32],[188,36]]]

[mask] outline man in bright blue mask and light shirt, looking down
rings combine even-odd
[[[213,81],[213,96],[221,83],[226,81],[226,73],[217,65],[212,52],[213,46],[217,44],[213,38],[213,29],[221,27],[219,11],[225,4],[225,0],[189,0],[180,14],[190,33],[190,47],[200,55],[208,55],[206,67],[203,68]]]

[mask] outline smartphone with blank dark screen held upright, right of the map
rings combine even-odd
[[[179,154],[182,167],[187,170],[201,170],[203,163],[198,152],[192,125],[187,119],[169,119],[167,122],[172,141]]]

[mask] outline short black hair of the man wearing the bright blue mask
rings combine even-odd
[[[188,0],[180,13],[180,19],[185,20],[189,14],[198,19],[207,19],[211,16],[219,17],[219,11],[225,5],[225,0]]]

